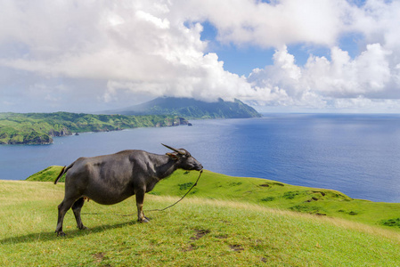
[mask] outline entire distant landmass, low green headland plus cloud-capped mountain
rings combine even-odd
[[[0,144],[51,144],[53,137],[84,132],[109,132],[137,127],[192,125],[188,119],[261,117],[235,101],[197,101],[164,97],[101,114],[0,113]]]

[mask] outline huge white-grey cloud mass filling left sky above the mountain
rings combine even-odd
[[[7,38],[2,44],[23,46],[25,53],[4,53],[0,64],[45,79],[104,80],[105,91],[93,90],[102,93],[98,101],[118,101],[121,92],[233,100],[250,90],[244,77],[224,70],[215,53],[203,53],[207,43],[200,40],[200,23],[184,26],[185,20],[177,20],[169,10],[172,5],[163,1],[99,2],[94,11],[82,2],[7,4],[8,26],[15,31],[3,26],[0,32]],[[43,5],[52,12],[43,12]],[[78,14],[70,20],[66,15],[60,17],[60,13],[76,10]],[[54,26],[58,19],[61,21]],[[86,27],[80,29],[80,24]]]

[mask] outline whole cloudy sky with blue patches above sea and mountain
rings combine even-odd
[[[0,112],[400,113],[399,28],[398,0],[1,0]]]

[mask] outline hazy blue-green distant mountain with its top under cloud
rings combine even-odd
[[[216,102],[198,101],[192,98],[159,97],[152,101],[125,109],[106,111],[121,115],[173,115],[185,118],[244,118],[261,117],[256,109],[240,100]]]

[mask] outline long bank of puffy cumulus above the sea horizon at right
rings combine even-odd
[[[351,59],[347,52],[334,46],[331,61],[310,56],[306,64],[299,67],[294,56],[283,47],[274,53],[273,65],[253,70],[248,81],[260,88],[258,90],[274,88],[272,92],[280,92],[280,104],[342,109],[353,103],[358,109],[362,106],[356,103],[372,105],[374,101],[370,98],[396,98],[397,93],[391,86],[399,88],[400,84],[396,76],[391,75],[391,54],[380,44],[368,44],[366,51]],[[328,103],[331,106],[327,106]]]

